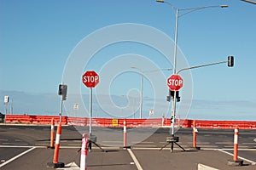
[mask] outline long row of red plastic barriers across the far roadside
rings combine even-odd
[[[50,125],[51,119],[55,122],[60,121],[59,116],[29,116],[29,115],[7,115],[5,123],[26,123],[26,124],[44,124]],[[169,118],[153,118],[153,119],[124,119],[124,118],[92,118],[93,127],[123,127],[124,121],[126,127],[170,127],[171,120]],[[190,119],[177,119],[176,127],[193,127]],[[62,116],[62,125],[89,126],[88,117],[71,117]],[[256,121],[207,121],[195,120],[197,128],[221,128],[233,129],[256,129]]]

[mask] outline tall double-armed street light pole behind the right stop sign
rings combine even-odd
[[[176,8],[174,5],[172,5],[172,3],[169,2],[165,2],[163,0],[156,0],[156,2],[158,3],[166,3],[168,5],[170,5],[172,7],[173,10],[175,10],[175,37],[174,37],[174,54],[173,54],[173,74],[176,75],[177,72],[177,28],[178,28],[178,18],[185,15],[185,14],[189,14],[191,12],[203,9],[203,8],[227,8],[228,5],[216,5],[216,6],[207,6],[207,7],[197,7],[197,8]],[[183,14],[179,14],[179,11],[187,11]],[[176,91],[174,91],[174,98],[172,99],[172,116],[171,116],[171,122],[172,122],[172,137],[174,138],[174,123],[175,123],[175,116],[176,116],[176,103],[177,103],[177,99],[176,99]],[[171,145],[171,152],[173,151],[173,142]]]

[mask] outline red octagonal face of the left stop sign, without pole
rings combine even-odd
[[[86,71],[82,77],[82,82],[87,88],[95,88],[100,78],[96,71]]]

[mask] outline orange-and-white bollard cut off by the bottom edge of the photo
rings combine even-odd
[[[81,157],[80,157],[80,170],[87,170],[87,152],[88,152],[88,138],[87,134],[83,134]]]

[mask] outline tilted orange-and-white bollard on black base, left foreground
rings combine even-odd
[[[57,133],[56,133],[56,139],[55,139],[55,154],[53,158],[53,162],[47,163],[48,167],[65,167],[65,164],[62,162],[59,162],[59,150],[60,150],[60,140],[61,140],[61,122],[59,123],[59,126],[57,128]]]

